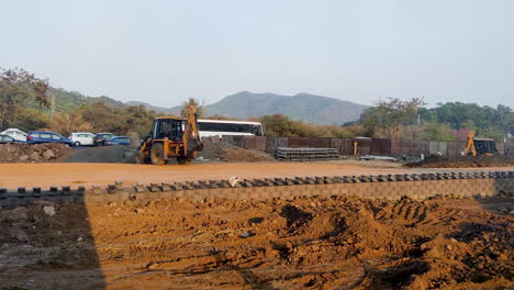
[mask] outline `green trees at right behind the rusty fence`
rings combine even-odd
[[[455,141],[458,131],[472,131],[477,136],[504,141],[514,133],[514,112],[476,103],[447,102],[423,107],[423,99],[402,101],[388,98],[367,109],[350,125],[360,125],[373,137]],[[348,125],[348,124],[347,124]]]

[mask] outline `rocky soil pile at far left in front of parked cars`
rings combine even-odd
[[[47,163],[67,158],[72,149],[65,144],[1,144],[0,163]]]

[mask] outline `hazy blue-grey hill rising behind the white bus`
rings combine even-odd
[[[241,119],[284,114],[308,123],[340,125],[357,120],[366,108],[368,107],[309,93],[289,97],[243,91],[206,105],[206,112],[209,115],[220,114]]]

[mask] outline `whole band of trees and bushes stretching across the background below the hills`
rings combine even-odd
[[[0,129],[52,130],[63,135],[87,131],[145,136],[154,119],[159,115],[144,105],[124,105],[108,98],[78,104],[76,96],[66,104],[69,107],[67,112],[56,112],[51,118],[48,90],[53,88],[47,79],[37,78],[23,69],[0,68]],[[56,92],[62,93],[53,91]],[[189,104],[198,107],[201,118],[209,113],[203,103],[190,98],[183,102],[182,115]],[[434,108],[424,105],[424,100],[418,98],[387,98],[365,110],[359,120],[343,125],[309,124],[281,114],[253,121],[261,122],[265,134],[272,136],[454,141],[457,131],[469,130],[478,136],[503,141],[514,134],[514,112],[506,105],[491,108],[462,102],[438,103]],[[231,118],[212,115],[209,119]]]

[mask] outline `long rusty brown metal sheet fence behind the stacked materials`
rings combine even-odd
[[[463,141],[422,141],[387,138],[323,138],[323,137],[270,137],[270,136],[223,136],[223,142],[246,149],[262,150],[272,154],[278,147],[291,148],[336,148],[339,155],[354,155],[357,142],[358,155],[378,156],[420,156],[442,154],[450,157],[460,156],[466,149]],[[496,142],[500,154],[513,154],[514,146]]]

